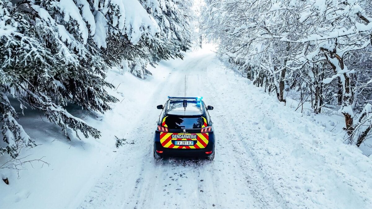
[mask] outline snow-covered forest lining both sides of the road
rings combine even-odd
[[[35,140],[18,122],[38,110],[67,139],[100,138],[68,112],[105,113],[119,99],[106,79],[215,44],[227,69],[286,103],[344,117],[359,147],[372,128],[372,4],[369,0],[0,0],[0,155]],[[124,81],[125,82],[125,81]],[[21,111],[16,111],[19,106]]]

